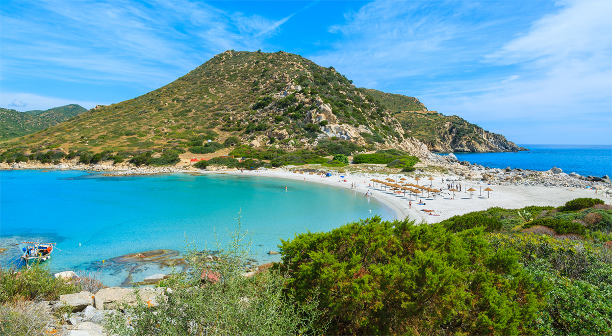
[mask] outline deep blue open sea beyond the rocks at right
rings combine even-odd
[[[519,144],[529,151],[516,153],[460,153],[460,161],[490,168],[521,168],[545,171],[556,166],[564,173],[582,176],[612,176],[612,146],[566,144]]]

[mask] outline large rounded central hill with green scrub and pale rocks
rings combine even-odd
[[[225,51],[155,91],[96,106],[69,122],[10,140],[3,147],[64,151],[138,151],[189,147],[193,138],[235,136],[242,144],[286,151],[321,141],[364,149],[427,149],[405,139],[381,103],[333,67],[296,54]]]

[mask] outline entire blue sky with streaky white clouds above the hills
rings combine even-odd
[[[612,144],[611,1],[2,1],[0,106],[86,108],[296,53],[519,144]]]

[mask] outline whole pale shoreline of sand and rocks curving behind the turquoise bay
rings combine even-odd
[[[424,171],[424,169],[435,166],[438,168],[446,169],[445,173],[436,171]],[[197,175],[206,174],[231,174],[231,175],[242,175],[242,176],[264,176],[281,179],[291,179],[293,181],[305,181],[314,182],[319,184],[331,185],[334,187],[341,187],[345,189],[351,189],[351,183],[355,184],[352,190],[362,194],[365,197],[365,193],[370,191],[371,197],[376,201],[384,204],[395,213],[395,218],[403,220],[408,217],[409,220],[415,220],[419,222],[435,223],[441,222],[442,220],[453,217],[454,215],[462,215],[473,211],[483,211],[490,207],[503,207],[506,209],[520,209],[526,206],[561,206],[565,202],[574,200],[575,198],[591,197],[600,198],[606,204],[612,204],[612,185],[605,182],[589,182],[581,179],[569,176],[564,173],[552,173],[551,171],[523,171],[523,170],[512,170],[503,171],[498,168],[493,170],[485,170],[485,167],[479,167],[479,165],[472,165],[469,169],[460,163],[441,163],[441,162],[423,162],[416,165],[417,172],[411,174],[387,174],[387,173],[338,173],[337,171],[329,170],[333,176],[330,177],[319,177],[319,174],[310,175],[308,173],[299,174],[293,173],[293,171],[304,171],[305,169],[310,170],[327,170],[325,167],[316,166],[288,166],[283,168],[272,168],[264,169],[261,171],[244,171],[241,173],[240,170],[232,169],[219,169],[219,170],[200,170],[191,165],[186,166],[166,166],[166,167],[117,167],[113,166],[114,169],[106,170],[108,166],[97,165],[97,166],[84,166],[78,165],[76,167],[70,167],[72,169],[64,170],[81,170],[81,171],[92,171],[95,173],[102,173],[102,176],[106,177],[121,177],[121,176],[146,176],[154,174],[170,174],[170,173],[191,173]],[[74,169],[77,168],[77,169]],[[420,169],[419,169],[420,168]],[[31,166],[22,167],[18,169],[31,169],[31,170],[54,170],[58,169],[53,166]],[[488,171],[491,173],[488,175],[485,173]],[[483,176],[493,176],[495,171],[499,177],[498,180],[494,181],[481,181]],[[345,176],[340,178],[340,176]],[[414,177],[423,177],[422,181],[415,181]],[[399,179],[405,177],[407,183],[418,183],[420,185],[429,185],[430,182],[427,180],[431,176],[434,178],[431,181],[431,185],[435,189],[442,190],[439,196],[427,197],[427,194],[422,196],[415,196],[414,194],[394,194],[387,192],[380,186],[376,187],[376,184],[370,182],[370,179],[384,179],[391,177],[392,179]],[[346,180],[346,182],[344,182]],[[452,198],[452,192],[447,192],[449,184],[458,185],[461,184],[463,187],[461,192],[455,192],[455,198]],[[370,186],[368,186],[368,184]],[[481,190],[487,187],[493,189],[487,197],[486,192]],[[586,187],[594,187],[595,189],[587,189]],[[473,188],[476,192],[472,195],[466,192],[467,189]],[[597,192],[597,193],[596,193]],[[425,204],[417,204],[419,200],[422,200]],[[412,207],[409,206],[409,201],[412,202]],[[433,210],[430,212],[424,212],[422,210]]]

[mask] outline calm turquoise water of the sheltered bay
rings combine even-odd
[[[127,253],[181,250],[185,235],[203,250],[214,242],[214,230],[226,239],[225,229],[236,228],[239,212],[243,229],[253,233],[259,263],[278,260],[266,253],[295,233],[329,231],[373,215],[395,218],[388,207],[350,189],[228,174],[103,177],[82,171],[1,171],[0,206],[2,241],[38,237],[58,242],[61,250],[48,261],[53,271],[96,269],[102,259]],[[2,263],[13,257],[4,253]],[[168,271],[142,276],[157,273]],[[103,274],[110,286],[124,278],[125,273]]]

